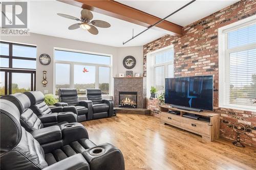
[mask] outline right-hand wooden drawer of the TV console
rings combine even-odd
[[[190,132],[210,136],[210,126],[208,125],[203,125],[195,121],[181,120],[181,127]]]

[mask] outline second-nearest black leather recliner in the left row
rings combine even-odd
[[[60,126],[77,122],[77,115],[72,112],[50,113],[37,116],[33,110],[30,109],[31,102],[28,96],[23,93],[4,95],[1,99],[12,102],[18,108],[20,123],[28,132],[53,125]]]

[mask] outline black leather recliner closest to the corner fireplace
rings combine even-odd
[[[113,116],[113,100],[102,100],[100,89],[87,89],[87,100],[92,101],[92,119]]]

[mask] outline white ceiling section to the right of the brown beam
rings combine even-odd
[[[190,0],[191,1],[191,0]],[[120,1],[117,2],[136,8],[148,14],[157,16],[159,18],[164,18],[172,12],[176,11],[180,7],[189,3],[190,1],[146,1],[146,0],[130,0],[130,1]],[[232,5],[239,0],[222,0],[222,1],[201,1],[197,0],[196,2],[188,5],[183,8],[181,11],[170,16],[166,20],[176,23],[182,27],[189,25],[199,19],[202,19],[212,13],[215,13],[229,5]]]

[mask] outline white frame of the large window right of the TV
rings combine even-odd
[[[218,29],[219,34],[219,107],[228,108],[228,109],[236,109],[236,110],[245,110],[245,111],[256,111],[256,108],[253,106],[243,106],[236,104],[227,104],[225,103],[225,98],[229,98],[229,87],[226,89],[225,83],[226,75],[229,75],[229,55],[230,53],[250,50],[252,48],[256,48],[256,43],[241,45],[233,48],[228,48],[228,33],[231,31],[235,31],[244,27],[248,27],[250,25],[255,24],[256,16],[253,15],[251,17],[247,17],[243,20],[239,20],[237,22],[231,23],[230,25],[221,27]],[[227,71],[226,71],[227,70]],[[225,91],[226,90],[226,91]],[[226,95],[226,97],[225,97]]]

